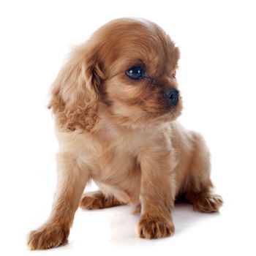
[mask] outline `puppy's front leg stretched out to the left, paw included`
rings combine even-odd
[[[67,244],[69,229],[89,174],[75,157],[68,153],[58,154],[58,184],[56,200],[50,218],[38,230],[29,234],[30,249],[48,249]]]

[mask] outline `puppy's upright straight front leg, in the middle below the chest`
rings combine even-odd
[[[173,235],[171,207],[175,199],[175,180],[170,150],[144,151],[140,157],[141,217],[140,238],[162,238]]]

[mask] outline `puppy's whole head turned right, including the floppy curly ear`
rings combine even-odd
[[[113,20],[72,53],[53,83],[49,107],[66,131],[90,131],[103,116],[134,127],[172,121],[182,108],[178,58],[155,23]]]

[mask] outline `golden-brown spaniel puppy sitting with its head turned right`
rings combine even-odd
[[[113,20],[76,48],[50,91],[59,140],[58,187],[48,221],[29,235],[30,249],[67,243],[75,211],[131,203],[138,236],[173,235],[176,198],[213,212],[209,152],[178,124],[179,50],[155,23]],[[83,194],[93,179],[99,191]]]

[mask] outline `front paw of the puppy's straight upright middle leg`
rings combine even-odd
[[[171,221],[167,222],[157,217],[142,217],[137,230],[140,238],[157,239],[172,236],[175,228]]]

